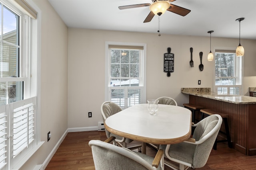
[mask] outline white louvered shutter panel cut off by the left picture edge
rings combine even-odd
[[[0,169],[7,164],[7,125],[5,106],[0,106]]]

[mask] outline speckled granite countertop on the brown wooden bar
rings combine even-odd
[[[210,98],[210,99],[220,100],[223,102],[229,102],[234,104],[256,104],[255,97],[218,94],[218,93],[210,92],[210,88],[181,88],[181,92],[184,94],[190,94],[194,96],[200,96],[204,98]]]

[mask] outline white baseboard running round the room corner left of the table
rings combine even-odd
[[[66,137],[66,135],[68,134],[68,132],[83,132],[83,131],[98,131],[98,126],[92,126],[92,127],[76,127],[76,128],[68,128],[64,134],[62,135],[62,137],[60,138],[60,140],[58,141],[58,143],[56,143],[54,149],[52,150],[52,152],[50,152],[50,154],[47,156],[46,160],[43,163],[43,168],[45,169],[46,166],[48,165],[48,163],[50,162],[50,160],[52,159],[52,156],[55,154],[55,152],[57,151],[57,149],[60,147],[60,144],[62,143],[62,141],[64,140],[64,138]]]

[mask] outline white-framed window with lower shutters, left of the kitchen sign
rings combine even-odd
[[[106,100],[127,108],[145,103],[145,44],[106,43]]]

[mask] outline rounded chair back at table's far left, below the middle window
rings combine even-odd
[[[101,114],[103,117],[103,121],[105,121],[109,116],[118,113],[119,111],[122,111],[121,107],[114,102],[107,101],[101,105]]]

